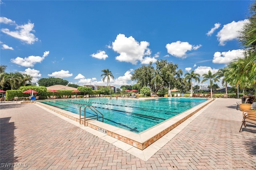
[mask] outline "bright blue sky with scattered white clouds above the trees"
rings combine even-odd
[[[100,75],[109,69],[116,87],[133,85],[135,69],[160,59],[183,75],[215,73],[243,56],[237,36],[250,3],[2,0],[0,63],[34,82],[59,77],[78,85],[106,85]]]

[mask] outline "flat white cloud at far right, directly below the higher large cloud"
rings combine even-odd
[[[232,51],[227,52],[215,52],[212,62],[218,64],[228,64],[230,61],[236,58],[243,58],[244,57],[244,50],[243,49],[234,49]]]

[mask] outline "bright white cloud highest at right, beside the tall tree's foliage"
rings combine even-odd
[[[238,22],[231,22],[223,26],[223,28],[218,32],[217,37],[220,42],[219,45],[225,45],[227,41],[236,39],[239,36],[239,32],[245,23],[249,20],[241,20]]]

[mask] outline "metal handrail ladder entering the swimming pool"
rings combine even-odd
[[[82,109],[82,106],[85,106],[84,107],[84,118],[81,118],[81,109]],[[89,117],[86,117],[86,108],[90,109],[91,111],[93,111],[96,115],[93,115],[93,116],[89,116]],[[101,116],[99,116],[101,115]],[[81,121],[82,119],[84,119],[84,126],[85,126],[85,121],[90,121],[90,120],[94,120],[94,119],[100,119],[102,118],[102,122],[104,122],[104,116],[102,115],[102,113],[100,113],[97,109],[95,109],[92,105],[81,105],[80,108],[79,108],[79,120],[80,120],[80,125],[82,124]]]

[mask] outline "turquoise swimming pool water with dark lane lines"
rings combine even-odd
[[[174,117],[206,99],[163,98],[153,100],[126,100],[108,98],[86,98],[40,101],[79,115],[81,105],[92,105],[104,115],[104,123],[140,133],[171,117]],[[81,111],[84,116],[84,106]],[[86,109],[86,117],[95,115]],[[100,120],[102,121],[102,120]]]

